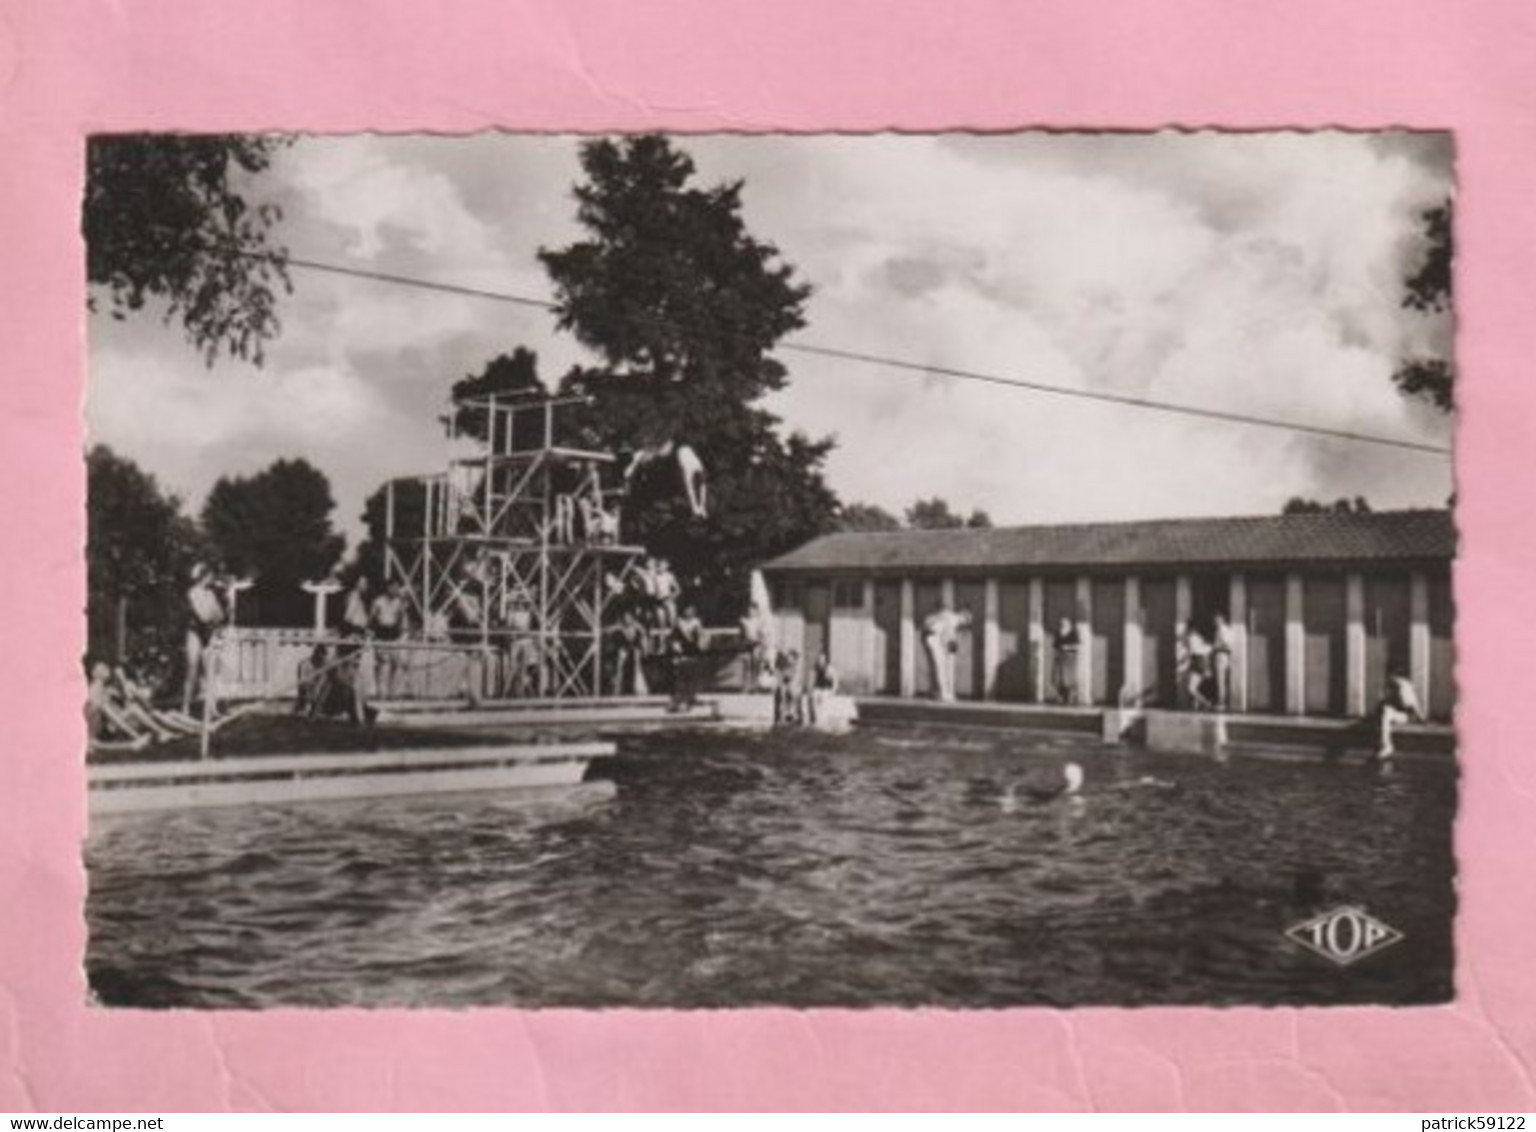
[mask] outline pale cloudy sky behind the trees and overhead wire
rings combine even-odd
[[[252,192],[293,255],[550,296],[541,246],[579,238],[579,141],[304,138]],[[750,229],[811,283],[794,341],[1066,389],[1448,444],[1395,392],[1444,319],[1401,307],[1416,215],[1450,192],[1442,137],[1359,134],[697,137],[745,178]],[[221,475],[303,456],[358,531],[382,479],[435,470],[449,386],[528,346],[539,310],[306,270],[266,367],[207,369],[175,326],[91,319],[92,442],[190,507]],[[1293,495],[1441,505],[1444,458],[783,355],[770,407],[833,433],[845,501],[940,495],[997,522],[1270,513]]]

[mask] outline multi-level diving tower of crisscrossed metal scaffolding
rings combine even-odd
[[[619,539],[622,488],[604,487],[605,452],[556,444],[576,399],[456,398],[450,438],[481,452],[386,488],[384,576],[399,581],[429,639],[476,644],[508,691],[548,699],[604,693],[605,634],[644,548]],[[396,528],[396,487],[419,484],[421,530]],[[533,670],[533,688],[524,676]],[[513,688],[516,682],[516,688]]]

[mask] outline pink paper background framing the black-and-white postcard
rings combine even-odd
[[[1516,719],[1536,647],[1536,5],[0,0],[0,1110],[1536,1107],[1536,753]],[[84,134],[1038,124],[1456,131],[1456,1006],[84,1008]]]

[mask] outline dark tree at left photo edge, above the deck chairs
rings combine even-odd
[[[86,647],[164,682],[181,654],[197,525],[154,476],[104,445],[86,456]]]

